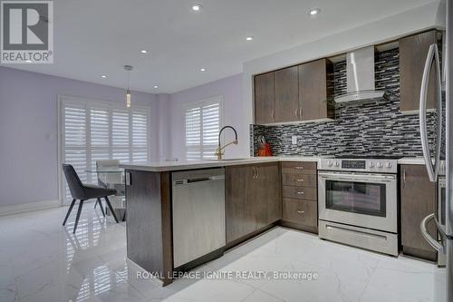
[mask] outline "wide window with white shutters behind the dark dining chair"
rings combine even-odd
[[[70,163],[83,182],[97,182],[96,161],[149,161],[149,107],[60,96],[60,164]],[[60,167],[59,167],[60,169]],[[64,176],[63,201],[71,201]]]

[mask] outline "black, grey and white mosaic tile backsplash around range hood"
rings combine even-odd
[[[335,104],[335,120],[293,125],[251,125],[251,153],[257,155],[257,138],[265,136],[275,155],[422,156],[419,115],[400,112],[399,49],[376,54],[375,85],[389,97],[374,102]],[[346,62],[334,63],[334,94],[346,92]],[[432,142],[436,114],[429,113]],[[291,138],[298,137],[293,145]]]

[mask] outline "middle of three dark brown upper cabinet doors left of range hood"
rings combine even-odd
[[[277,70],[275,78],[275,122],[300,121],[297,66]]]

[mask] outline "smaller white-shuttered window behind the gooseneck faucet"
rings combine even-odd
[[[222,127],[222,97],[188,103],[185,126],[187,160],[215,159],[218,132]]]

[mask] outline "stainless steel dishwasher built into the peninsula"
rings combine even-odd
[[[226,245],[225,170],[173,172],[172,181],[173,261],[178,268]]]

